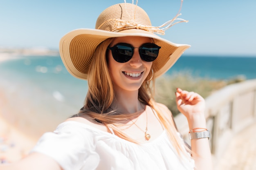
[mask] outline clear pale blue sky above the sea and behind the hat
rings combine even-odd
[[[94,28],[101,11],[122,2],[0,0],[0,47],[58,49],[65,33]],[[176,15],[180,0],[138,0],[138,5],[160,26]],[[256,0],[184,0],[181,13],[189,22],[171,27],[164,38],[190,44],[186,54],[256,56]]]

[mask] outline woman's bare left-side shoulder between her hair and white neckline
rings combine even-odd
[[[92,126],[92,127],[97,128],[99,130],[103,130],[103,131],[108,132],[108,128],[104,124],[101,124],[101,123],[95,121],[92,117],[90,117],[88,115],[83,115],[83,117],[71,117],[71,118],[68,118],[65,121],[76,121],[76,122],[79,122],[79,123],[82,123],[82,124]]]

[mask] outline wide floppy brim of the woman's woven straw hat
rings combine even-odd
[[[71,75],[79,79],[87,79],[90,63],[97,46],[108,38],[126,36],[153,38],[155,44],[161,46],[157,59],[153,61],[155,77],[166,73],[182,53],[190,47],[187,44],[170,42],[154,33],[141,29],[127,29],[119,32],[76,29],[61,38],[59,44],[61,59]]]

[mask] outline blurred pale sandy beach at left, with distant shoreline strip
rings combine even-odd
[[[29,54],[33,55],[33,51]],[[24,54],[0,53],[0,63],[17,60],[20,55]],[[24,91],[22,85],[10,85],[7,79],[0,79],[0,163],[13,163],[28,155],[40,136],[53,131],[58,121],[64,119],[56,120],[53,117],[53,122],[44,117],[35,117],[31,93],[21,95],[20,91]]]

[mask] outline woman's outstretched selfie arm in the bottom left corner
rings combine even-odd
[[[16,163],[0,164],[0,170],[62,170],[62,168],[54,159],[34,152]]]

